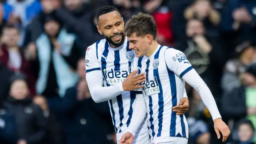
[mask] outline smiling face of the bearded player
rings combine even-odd
[[[110,45],[118,47],[124,43],[124,20],[117,11],[101,15],[97,29],[106,37]]]

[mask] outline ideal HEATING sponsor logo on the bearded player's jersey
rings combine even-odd
[[[129,67],[129,70],[130,69],[131,67]],[[110,85],[115,85],[120,82],[123,82],[129,74],[129,72],[126,70],[114,71],[113,68],[111,68],[110,71],[106,71],[106,69],[104,69],[103,71],[104,71],[104,77],[106,78],[106,82]]]

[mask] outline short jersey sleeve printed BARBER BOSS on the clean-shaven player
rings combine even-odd
[[[187,72],[193,69],[185,54],[174,48],[167,48],[164,53],[166,64],[170,70],[182,78]]]

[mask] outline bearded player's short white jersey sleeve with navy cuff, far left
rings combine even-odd
[[[96,44],[89,46],[86,50],[85,62],[86,62],[86,73],[94,70],[100,70],[100,65],[97,58]]]

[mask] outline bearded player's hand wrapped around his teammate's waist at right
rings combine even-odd
[[[179,102],[179,105],[172,107],[172,109],[174,112],[176,112],[177,115],[185,114],[189,109],[188,98],[182,98]]]

